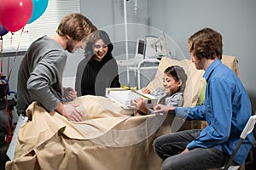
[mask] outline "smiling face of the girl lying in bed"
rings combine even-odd
[[[172,76],[164,74],[163,85],[166,91],[166,94],[172,95],[178,92],[179,87],[182,85],[182,82],[175,81]]]

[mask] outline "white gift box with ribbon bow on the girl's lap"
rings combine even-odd
[[[157,105],[157,99],[150,94],[143,94],[139,90],[129,90],[125,88],[106,88],[106,97],[119,104],[124,109],[130,109],[132,99],[143,98],[149,108]]]

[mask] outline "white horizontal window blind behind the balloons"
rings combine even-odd
[[[8,32],[3,36],[3,53],[16,52],[17,49],[26,51],[38,37],[54,35],[61,19],[71,13],[80,13],[80,0],[49,0],[38,20],[26,24],[20,31],[13,34]]]

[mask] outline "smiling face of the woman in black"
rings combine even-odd
[[[101,61],[108,52],[108,44],[103,42],[102,39],[99,39],[95,42],[93,50],[95,54],[95,59]]]

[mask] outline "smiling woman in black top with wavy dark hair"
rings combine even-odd
[[[119,72],[112,55],[113,43],[105,31],[94,32],[80,61],[75,89],[77,95],[105,96],[106,88],[119,88]]]

